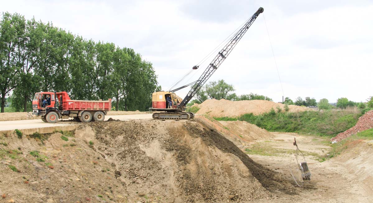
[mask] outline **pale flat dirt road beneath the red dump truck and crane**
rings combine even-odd
[[[131,120],[131,119],[151,119],[151,114],[136,114],[136,115],[107,115],[105,120],[113,118],[115,120]],[[61,120],[71,120],[61,119]],[[76,125],[76,122],[57,122],[57,123],[44,123],[41,119],[34,120],[19,120],[19,121],[0,121],[0,132],[9,131],[15,129],[38,129],[46,127],[57,127],[57,126],[71,126]],[[67,129],[68,130],[68,129]]]

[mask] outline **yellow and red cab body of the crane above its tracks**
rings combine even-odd
[[[169,107],[166,98],[171,96],[172,105]],[[182,99],[177,96],[174,92],[160,91],[154,92],[152,94],[152,108],[149,108],[150,111],[173,111],[178,110],[178,105]]]

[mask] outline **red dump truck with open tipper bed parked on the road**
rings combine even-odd
[[[32,100],[32,114],[41,120],[56,123],[60,118],[78,122],[103,121],[112,109],[112,100],[71,100],[67,92],[37,92]]]

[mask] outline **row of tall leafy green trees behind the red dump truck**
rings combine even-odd
[[[146,110],[151,93],[160,89],[152,64],[133,49],[87,40],[18,13],[1,16],[0,72],[1,112],[9,96],[16,111],[28,111],[40,91],[112,98],[116,110]]]

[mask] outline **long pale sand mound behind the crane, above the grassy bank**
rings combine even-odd
[[[238,117],[243,114],[253,113],[254,115],[269,112],[272,108],[277,111],[277,107],[284,110],[285,105],[266,100],[244,100],[230,101],[225,99],[207,99],[199,104],[197,114],[209,114],[213,117]],[[307,107],[289,105],[289,112],[307,111]]]

